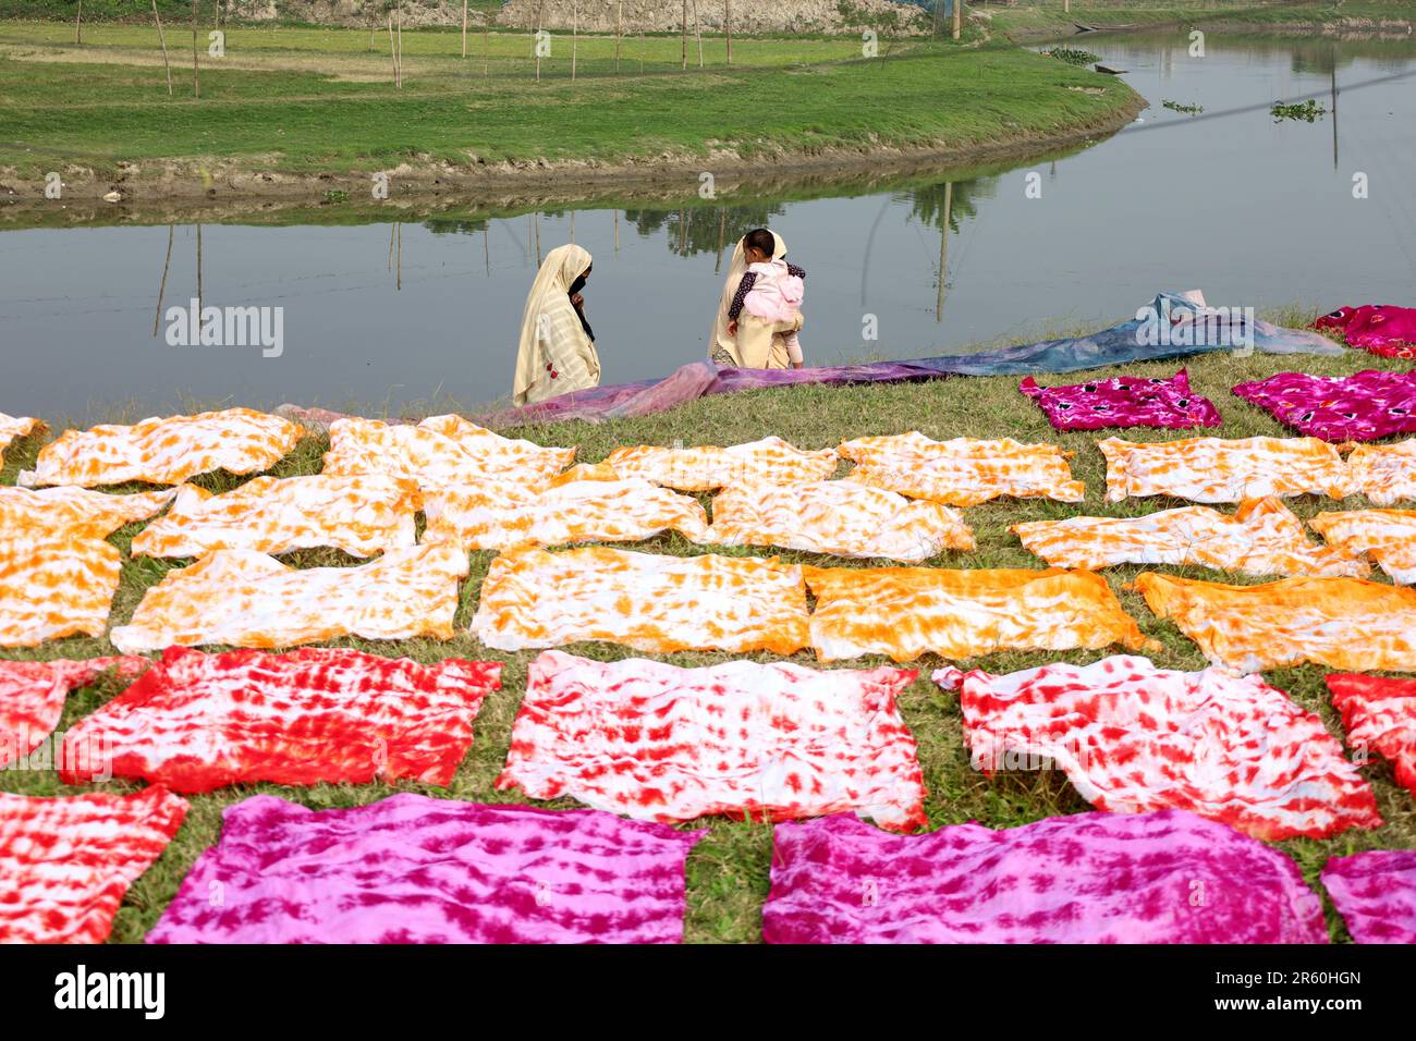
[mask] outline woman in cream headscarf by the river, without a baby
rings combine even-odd
[[[599,385],[600,355],[581,297],[590,263],[589,252],[578,245],[556,246],[545,255],[521,316],[513,385],[517,405]]]

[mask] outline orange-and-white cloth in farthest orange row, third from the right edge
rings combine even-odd
[[[947,506],[1004,496],[1059,503],[1086,497],[1086,484],[1072,479],[1070,453],[1056,445],[1021,445],[1011,438],[932,440],[910,431],[847,440],[837,452],[857,463],[847,480]]]

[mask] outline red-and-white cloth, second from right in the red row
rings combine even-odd
[[[1313,712],[1257,676],[1143,657],[1010,676],[940,669],[973,765],[1052,759],[1099,810],[1189,810],[1269,841],[1381,827],[1376,799]]]

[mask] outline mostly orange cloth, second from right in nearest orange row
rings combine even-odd
[[[1147,646],[1106,579],[1090,571],[804,567],[801,572],[816,596],[811,646],[821,661]]]

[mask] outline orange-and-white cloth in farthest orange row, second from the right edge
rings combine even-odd
[[[1335,446],[1317,438],[1184,438],[1096,442],[1106,456],[1106,500],[1174,496],[1195,503],[1242,503],[1266,496],[1351,494]]]

